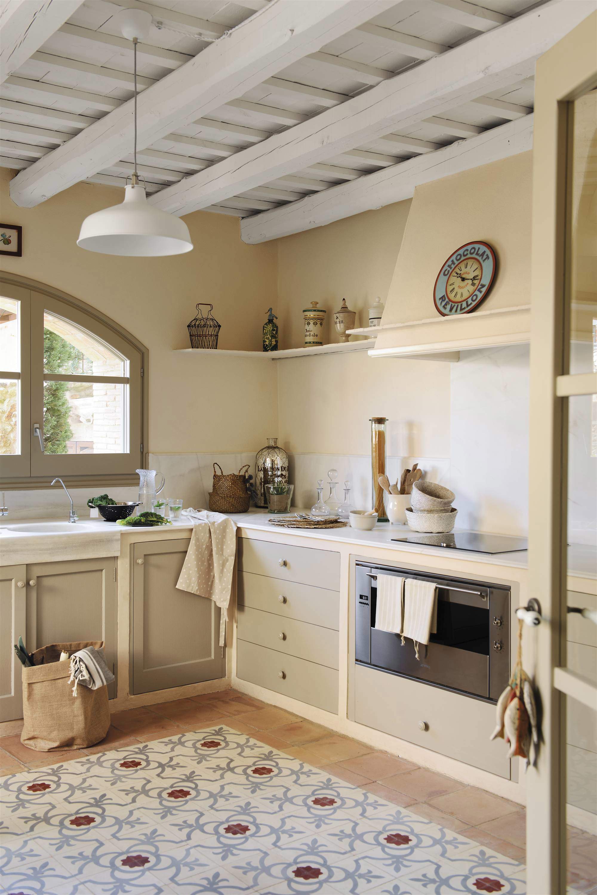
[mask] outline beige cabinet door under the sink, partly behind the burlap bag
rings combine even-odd
[[[71,559],[27,567],[27,648],[103,640],[116,673],[115,558]],[[115,696],[115,682],[108,686]]]

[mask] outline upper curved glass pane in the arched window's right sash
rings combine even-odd
[[[44,314],[44,372],[126,376],[125,359],[69,320]]]

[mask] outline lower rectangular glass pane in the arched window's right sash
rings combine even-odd
[[[128,450],[127,386],[98,382],[44,383],[47,454],[123,454]]]

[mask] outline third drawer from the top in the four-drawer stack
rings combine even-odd
[[[319,662],[330,669],[338,667],[338,635],[328,627],[280,618],[248,606],[238,607],[236,623],[241,640],[268,646],[287,656]]]

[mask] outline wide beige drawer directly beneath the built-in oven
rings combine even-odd
[[[495,705],[364,665],[354,668],[354,688],[359,724],[510,779],[503,739],[490,742]]]

